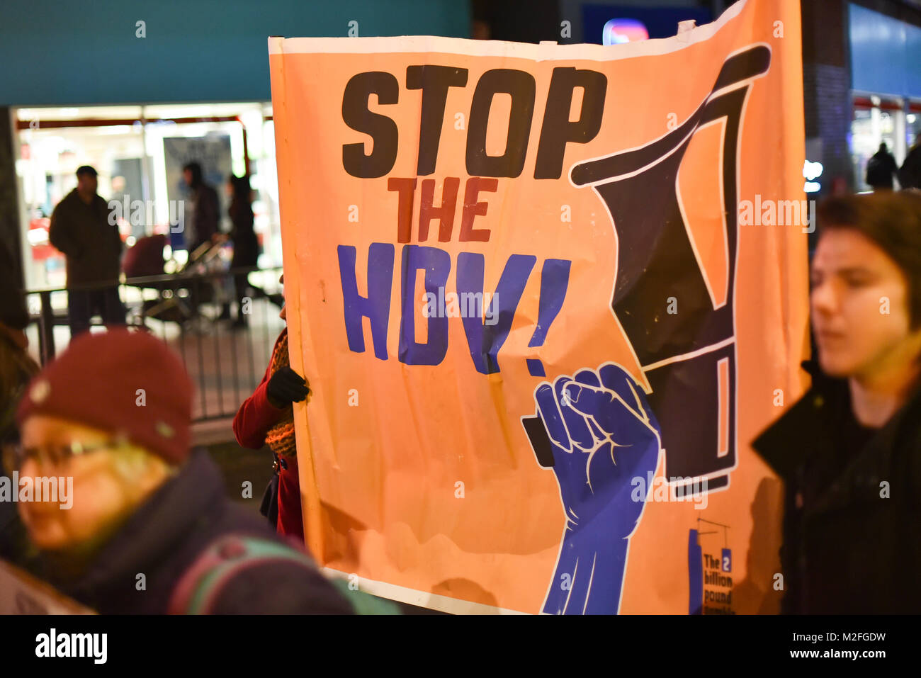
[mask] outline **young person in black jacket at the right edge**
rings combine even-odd
[[[921,195],[823,202],[812,386],[754,443],[786,486],[787,614],[921,612]],[[820,369],[821,368],[821,369]]]

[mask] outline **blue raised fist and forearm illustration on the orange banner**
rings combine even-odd
[[[543,612],[615,614],[620,607],[629,537],[646,497],[635,501],[633,479],[655,473],[659,423],[642,387],[619,365],[582,369],[544,381],[534,392],[537,417],[550,439],[566,526]],[[531,436],[534,419],[524,422]]]

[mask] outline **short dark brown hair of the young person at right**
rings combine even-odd
[[[819,233],[852,228],[872,240],[908,280],[908,313],[921,327],[921,191],[882,191],[831,197],[817,210]]]

